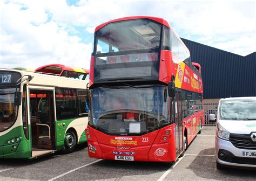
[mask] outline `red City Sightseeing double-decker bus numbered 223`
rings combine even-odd
[[[201,67],[194,65],[162,18],[97,26],[85,131],[89,156],[175,162],[204,123]]]

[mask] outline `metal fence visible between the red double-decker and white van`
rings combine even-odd
[[[214,121],[209,120],[209,115],[214,114],[216,118],[217,111],[218,111],[218,102],[204,103],[204,111],[205,111],[205,125],[215,125],[216,119]]]

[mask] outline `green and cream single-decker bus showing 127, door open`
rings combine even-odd
[[[37,158],[85,143],[87,80],[0,68],[0,158]]]

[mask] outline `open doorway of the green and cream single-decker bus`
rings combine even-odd
[[[43,150],[51,150],[55,145],[55,119],[53,92],[30,89],[30,124],[32,157],[35,153],[44,155]]]

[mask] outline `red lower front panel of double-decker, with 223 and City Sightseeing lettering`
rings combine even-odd
[[[114,156],[134,156],[134,161],[175,162],[174,124],[142,136],[111,136],[88,126],[86,131],[89,156],[114,159]],[[169,135],[165,132],[169,131]],[[88,135],[90,135],[88,138]],[[163,137],[166,136],[165,141]],[[125,140],[127,139],[127,140]]]

